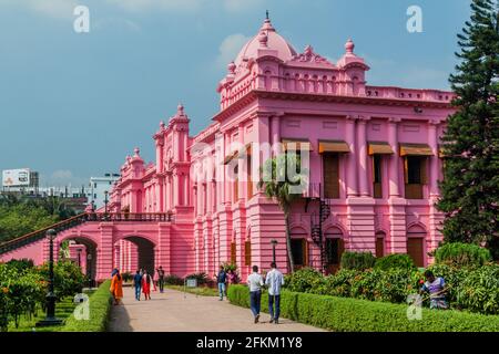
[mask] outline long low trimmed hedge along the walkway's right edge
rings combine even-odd
[[[228,288],[231,303],[248,308],[247,287]],[[262,294],[266,310],[267,293]],[[422,320],[407,319],[408,305],[316,295],[283,290],[283,317],[337,332],[498,332],[499,316],[421,309]]]

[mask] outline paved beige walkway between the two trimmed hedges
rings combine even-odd
[[[261,322],[253,323],[249,309],[218,301],[214,296],[197,296],[165,289],[152,292],[151,301],[135,301],[133,289],[123,288],[123,305],[113,306],[111,332],[312,332],[322,331],[309,325],[279,319],[279,324],[268,323],[269,315],[262,313]],[[265,305],[265,304],[263,304]]]

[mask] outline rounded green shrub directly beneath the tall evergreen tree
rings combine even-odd
[[[492,260],[488,249],[472,243],[449,242],[435,251],[435,261],[455,267],[480,267]]]

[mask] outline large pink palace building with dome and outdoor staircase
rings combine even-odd
[[[348,40],[336,63],[310,45],[298,53],[266,19],[228,63],[212,123],[191,135],[179,105],[153,135],[155,163],[135,148],[106,210],[57,225],[55,248],[74,241],[71,257],[79,250],[95,279],[113,267],[213,275],[223,262],[245,279],[253,264],[268,269],[273,247],[286,272],[284,215],[257,181],[266,159],[298,149],[308,183],[291,212],[297,267],[335,271],[345,250],[427,266],[442,239],[439,137],[454,94],[370,86],[354,48]],[[0,260],[45,260],[42,231],[0,244]]]

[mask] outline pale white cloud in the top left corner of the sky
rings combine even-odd
[[[20,6],[33,12],[51,18],[74,18],[73,10],[78,6],[77,0],[0,0],[0,6]]]

